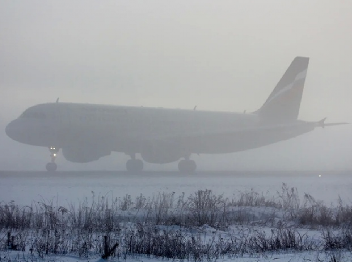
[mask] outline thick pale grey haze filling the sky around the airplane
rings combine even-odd
[[[44,170],[45,148],[5,135],[34,104],[65,102],[251,112],[295,56],[309,56],[300,119],[352,121],[352,2],[1,1],[0,170]],[[351,169],[352,127],[318,129],[199,169]],[[59,169],[124,169],[112,154]],[[213,160],[210,162],[209,160]],[[146,169],[176,169],[145,165]]]

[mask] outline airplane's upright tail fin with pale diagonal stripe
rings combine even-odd
[[[300,110],[304,82],[308,69],[309,57],[296,57],[274,91],[256,112],[263,121],[275,123],[293,121]]]

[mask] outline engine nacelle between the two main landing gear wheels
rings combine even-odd
[[[168,143],[145,144],[140,155],[145,162],[153,164],[171,163],[182,157],[180,150]]]

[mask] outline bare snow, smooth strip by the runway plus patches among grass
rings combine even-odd
[[[99,201],[101,196],[107,196],[105,199],[124,198],[126,195],[130,195],[134,200],[140,194],[145,197],[157,195],[161,192],[171,193],[175,192],[175,196],[182,195],[183,193],[187,196],[196,193],[199,189],[212,189],[214,195],[224,194],[224,197],[231,198],[241,192],[250,192],[253,189],[254,192],[263,193],[265,196],[277,196],[282,189],[283,183],[287,184],[289,188],[296,187],[298,193],[303,195],[309,193],[317,200],[323,200],[327,206],[331,203],[337,204],[338,197],[347,204],[350,204],[352,195],[352,176],[349,172],[198,172],[191,176],[180,175],[177,172],[146,172],[138,175],[131,175],[126,172],[57,172],[55,174],[48,174],[46,172],[0,172],[0,200],[3,203],[15,201],[15,204],[20,206],[30,205],[32,201],[47,201],[52,200],[54,206],[57,205],[69,205],[70,203],[78,204],[79,201],[87,200],[87,202],[94,200]],[[98,198],[99,196],[99,198]],[[49,202],[48,202],[49,203]],[[82,204],[82,202],[80,202]],[[235,207],[237,208],[237,207]],[[258,220],[254,213],[257,211],[261,213],[261,219],[263,214],[273,213],[270,207],[265,207],[264,211],[260,211],[262,207],[238,207],[241,212],[252,214],[254,220]],[[262,208],[263,209],[263,208]],[[233,211],[236,211],[235,209]],[[137,212],[137,211],[136,211]],[[272,217],[275,221],[282,219],[279,210],[276,210],[275,216]],[[133,210],[127,210],[126,212],[121,211],[120,216],[123,215],[126,221],[129,220],[129,216],[136,218],[140,216],[145,218],[145,214],[142,211],[138,211],[135,214]],[[142,221],[142,219],[140,219]],[[259,220],[258,220],[259,221]],[[255,222],[255,221],[254,221]],[[292,221],[291,221],[292,222]],[[124,222],[126,223],[126,222]],[[130,222],[127,222],[130,223]],[[143,224],[143,223],[142,223]],[[136,224],[137,225],[137,224]],[[140,225],[140,222],[139,222]],[[289,225],[289,224],[286,224]],[[256,232],[264,232],[261,237],[272,236],[272,232],[277,230],[274,227],[268,227],[266,225],[256,226],[256,223],[248,225],[230,226],[227,227],[226,231],[220,231],[213,227],[203,225],[201,227],[193,227],[187,229],[181,227],[178,229],[171,229],[170,226],[158,226],[161,234],[163,230],[178,230],[182,232],[184,236],[187,234],[193,234],[200,236],[201,240],[199,243],[211,241],[212,238],[216,238],[216,243],[219,242],[219,237],[224,238],[237,237],[241,238],[248,237]],[[177,227],[177,226],[176,226]],[[128,226],[128,228],[131,228]],[[30,229],[31,230],[31,229]],[[74,229],[75,230],[75,229]],[[258,231],[257,231],[258,230]],[[273,231],[274,230],[274,231]],[[269,262],[269,261],[333,261],[333,257],[338,258],[336,261],[352,261],[351,252],[341,251],[335,249],[334,251],[326,251],[323,243],[322,231],[312,230],[311,228],[300,228],[294,227],[294,230],[298,235],[307,237],[310,243],[317,243],[315,248],[310,248],[309,251],[302,251],[301,249],[290,249],[283,248],[278,251],[264,251],[258,252],[253,250],[246,251],[242,255],[231,255],[219,256],[216,261],[242,261],[242,262]],[[245,233],[244,233],[245,231]],[[5,241],[6,230],[0,231],[0,240]],[[21,233],[24,234],[25,231]],[[27,231],[29,232],[29,231]],[[75,231],[71,231],[75,232]],[[78,232],[78,231],[77,231]],[[19,231],[12,231],[12,234],[16,236]],[[42,238],[38,232],[33,237],[28,237],[27,241],[32,242],[36,245],[36,241]],[[94,234],[103,234],[94,233]],[[115,234],[115,233],[114,233]],[[70,243],[75,243],[75,233],[72,237],[68,237]],[[126,249],[126,233],[117,233],[117,239],[120,243],[125,243],[120,249],[119,254],[123,254],[123,250]],[[259,236],[260,237],[260,236]],[[184,238],[183,238],[184,239]],[[65,240],[66,241],[66,240]],[[241,241],[241,240],[239,240]],[[215,242],[214,242],[215,243]],[[215,243],[215,244],[216,244]],[[244,242],[248,243],[248,242]],[[255,240],[254,240],[255,243]],[[27,244],[30,246],[31,244]],[[122,245],[122,244],[121,244]],[[315,245],[315,244],[314,244]],[[201,246],[201,245],[200,245]],[[119,247],[120,248],[120,247]],[[93,248],[94,249],[94,248]],[[254,248],[255,249],[255,248]],[[78,262],[78,261],[92,261],[101,262],[99,252],[92,252],[86,258],[76,255],[75,252],[71,252],[70,255],[45,255],[39,256],[38,254],[32,256],[29,254],[29,248],[26,251],[10,251],[5,250],[1,252],[0,261],[66,261],[66,262]],[[209,260],[201,261],[214,261],[213,256]],[[161,261],[167,260],[165,257],[147,256],[138,253],[124,256],[109,258],[110,261]],[[104,260],[105,261],[105,260]],[[172,260],[174,261],[174,260]],[[187,258],[184,261],[194,261],[193,258]]]

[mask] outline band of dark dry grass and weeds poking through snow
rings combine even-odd
[[[40,258],[143,254],[191,261],[283,250],[352,250],[351,219],[352,207],[341,200],[325,206],[305,194],[301,201],[297,189],[285,184],[276,197],[250,191],[228,199],[206,189],[188,198],[158,193],[109,199],[92,192],[92,201],[67,207],[48,200],[31,206],[1,202],[0,261],[9,250]],[[202,232],[205,224],[215,232]],[[247,229],[233,233],[233,225]],[[307,226],[321,230],[319,242],[298,230]]]

